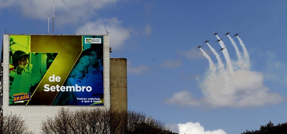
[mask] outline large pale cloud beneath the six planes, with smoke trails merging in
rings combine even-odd
[[[237,37],[244,54],[244,60],[238,62],[239,65],[234,68],[230,75],[230,70],[212,72],[208,70],[207,76],[199,80],[202,97],[195,97],[190,90],[175,92],[171,98],[166,98],[165,102],[170,105],[179,105],[180,107],[261,107],[265,105],[275,105],[284,101],[284,97],[264,86],[263,74],[250,69],[250,60],[245,44]],[[232,40],[231,40],[232,41]],[[223,46],[224,44],[222,44]],[[226,49],[226,48],[225,48]],[[225,50],[224,49],[224,50]],[[226,66],[231,65],[227,58],[228,51],[223,51],[226,59]],[[218,60],[220,61],[220,60]],[[233,66],[237,66],[233,65]],[[216,66],[219,68],[219,65]],[[230,69],[230,68],[229,68]]]

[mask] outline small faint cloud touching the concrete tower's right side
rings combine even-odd
[[[146,74],[150,71],[150,67],[147,65],[139,65],[136,67],[131,66],[131,61],[127,61],[127,73],[129,74]]]

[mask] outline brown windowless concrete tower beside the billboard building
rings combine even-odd
[[[110,58],[110,109],[127,110],[127,59]]]

